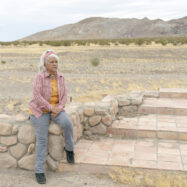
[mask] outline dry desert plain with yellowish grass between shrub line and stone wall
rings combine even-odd
[[[54,49],[66,78],[68,103],[111,94],[187,87],[187,45],[0,46],[0,113],[28,112],[40,55]],[[93,66],[91,59],[98,58]]]

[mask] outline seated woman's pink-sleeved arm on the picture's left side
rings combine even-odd
[[[33,85],[34,100],[41,108],[44,108],[48,111],[52,111],[53,108],[52,105],[42,97],[41,92],[42,92],[42,78],[40,75],[36,75]]]

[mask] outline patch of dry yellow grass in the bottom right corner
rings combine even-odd
[[[109,176],[115,182],[137,187],[184,187],[187,184],[186,174],[180,172],[115,168]]]

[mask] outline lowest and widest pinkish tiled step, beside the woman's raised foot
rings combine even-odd
[[[87,145],[87,147],[84,147]],[[187,142],[154,139],[80,140],[76,163],[128,166],[159,170],[187,169]]]

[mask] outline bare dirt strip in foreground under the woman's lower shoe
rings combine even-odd
[[[47,172],[46,187],[130,187],[116,184],[107,176]],[[35,187],[41,186],[35,181],[34,172],[21,169],[0,169],[0,187]],[[132,186],[131,186],[132,187]]]

